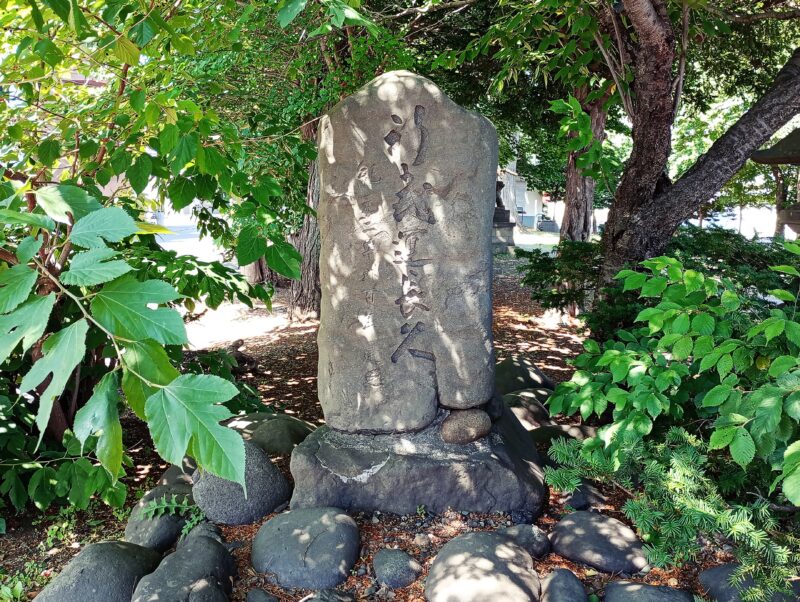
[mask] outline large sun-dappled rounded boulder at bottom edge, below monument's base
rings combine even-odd
[[[531,602],[539,578],[530,554],[502,535],[473,532],[450,540],[425,580],[428,602]]]

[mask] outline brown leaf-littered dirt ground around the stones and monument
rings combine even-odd
[[[571,375],[567,360],[580,352],[583,336],[577,323],[564,322],[532,305],[529,293],[519,285],[517,265],[518,262],[510,258],[497,258],[495,261],[494,337],[498,359],[514,353],[525,354],[555,381],[566,380]],[[224,337],[224,323],[220,327],[219,319],[214,316],[191,324],[190,338],[194,333],[195,339],[208,341],[213,346],[225,346],[238,338],[237,333],[242,330],[257,332],[255,325],[264,327],[260,334],[247,337],[241,348],[251,360],[243,380],[257,389],[264,405],[316,424],[322,423],[322,412],[316,398],[317,324],[289,323],[280,293],[272,312],[263,307],[250,310],[242,306],[228,308],[227,315],[245,321],[230,331],[230,339]],[[216,334],[209,335],[209,325],[215,326]],[[146,427],[132,416],[126,416],[125,423],[124,432],[134,463],[134,469],[129,470],[126,478],[132,492],[127,505],[129,509],[141,493],[153,485],[166,465],[154,453]],[[278,458],[276,464],[290,476],[288,458]],[[618,492],[606,493],[611,503],[605,511],[624,518],[619,512],[624,497]],[[554,502],[537,521],[545,530],[564,513],[564,508],[557,503],[558,496],[551,495],[551,500]],[[17,578],[24,581],[28,597],[32,598],[86,544],[121,537],[126,518],[127,512],[112,511],[100,503],[93,503],[86,512],[62,509],[60,512],[51,510],[44,517],[33,512],[10,516],[8,534],[0,538],[0,582],[16,573]],[[223,529],[227,541],[233,543],[239,567],[233,600],[244,600],[252,587],[263,587],[286,602],[299,600],[306,593],[300,590],[287,592],[271,586],[250,566],[250,543],[268,518],[254,525]],[[423,600],[423,580],[394,592],[379,589],[372,578],[371,568],[371,557],[379,549],[387,546],[405,549],[420,561],[427,572],[439,548],[454,536],[471,530],[493,529],[510,521],[510,517],[502,514],[467,515],[459,512],[441,515],[421,512],[403,517],[369,513],[358,514],[355,519],[362,538],[361,556],[341,589],[356,593],[358,599],[398,601]],[[702,564],[720,560],[722,557],[710,554]],[[582,578],[590,594],[600,593],[611,579],[554,554],[535,561],[535,566],[540,576],[559,566],[572,569]],[[700,568],[691,565],[672,572],[653,570],[647,575],[646,582],[699,591],[697,574]]]

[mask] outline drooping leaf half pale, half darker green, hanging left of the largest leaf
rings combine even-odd
[[[119,423],[119,383],[116,372],[107,372],[95,385],[94,392],[75,414],[75,437],[86,444],[89,435],[98,435],[95,453],[97,459],[111,475],[112,481],[122,468],[122,426]]]

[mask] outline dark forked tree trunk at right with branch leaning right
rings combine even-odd
[[[625,0],[629,5],[650,4]],[[652,6],[652,5],[651,5]],[[658,3],[661,7],[662,4]],[[651,19],[636,23],[641,15],[627,11],[639,34]],[[665,11],[664,11],[665,12]],[[642,28],[642,31],[640,31]],[[793,116],[800,113],[800,48],[775,78],[773,86],[706,154],[674,184],[664,175],[670,152],[672,106],[669,73],[674,52],[663,50],[659,38],[645,56],[637,55],[634,89],[637,109],[633,120],[633,150],[611,207],[604,241],[601,285],[628,263],[664,252],[678,226],[712,198],[741,169],[750,155],[764,145]],[[659,49],[663,51],[659,51]],[[653,55],[658,54],[656,60]],[[663,62],[663,64],[662,64]],[[664,78],[667,81],[664,81]]]

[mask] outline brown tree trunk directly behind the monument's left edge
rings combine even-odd
[[[316,210],[319,205],[319,170],[316,161],[308,168],[308,206]],[[319,285],[319,224],[313,215],[306,215],[303,227],[290,237],[303,261],[300,280],[292,280],[289,301],[289,319],[305,321],[319,317],[321,291]]]

